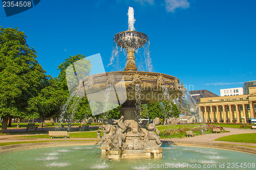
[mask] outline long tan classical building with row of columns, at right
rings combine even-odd
[[[255,118],[256,87],[249,87],[249,94],[201,98],[198,107],[205,122],[250,123]]]

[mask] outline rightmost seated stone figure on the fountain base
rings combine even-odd
[[[150,124],[147,127],[147,129],[148,129],[147,137],[148,137],[148,140],[150,140],[151,147],[156,147],[156,145],[154,145],[154,142],[152,142],[152,141],[155,141],[159,147],[161,145],[160,136],[159,136],[160,132],[158,131],[158,129],[156,127],[156,125],[158,125],[159,123],[160,123],[160,119],[158,117],[156,117],[153,120],[153,124]]]

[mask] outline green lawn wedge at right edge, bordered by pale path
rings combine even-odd
[[[241,143],[256,143],[256,133],[244,133],[244,134],[236,134],[223,136],[215,141],[229,141],[229,142],[241,142]]]

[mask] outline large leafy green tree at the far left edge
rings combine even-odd
[[[48,77],[35,59],[27,36],[17,28],[0,27],[0,115],[2,133],[7,131],[8,117],[33,117],[28,101],[47,86]]]

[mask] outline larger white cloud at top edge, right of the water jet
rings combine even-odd
[[[187,0],[165,0],[165,8],[167,12],[174,13],[177,8],[187,9],[189,5]]]

